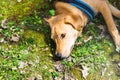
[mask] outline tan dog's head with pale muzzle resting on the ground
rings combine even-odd
[[[66,7],[67,5],[65,7],[57,5],[57,12],[59,14],[45,19],[50,25],[51,38],[56,43],[55,54],[58,58],[66,58],[70,55],[75,41],[81,34],[84,26],[83,17],[79,14],[72,13],[73,11],[69,13]]]

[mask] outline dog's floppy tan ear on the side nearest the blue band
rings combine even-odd
[[[84,26],[82,19],[79,16],[66,16],[64,22],[71,24],[78,31],[82,31]]]

